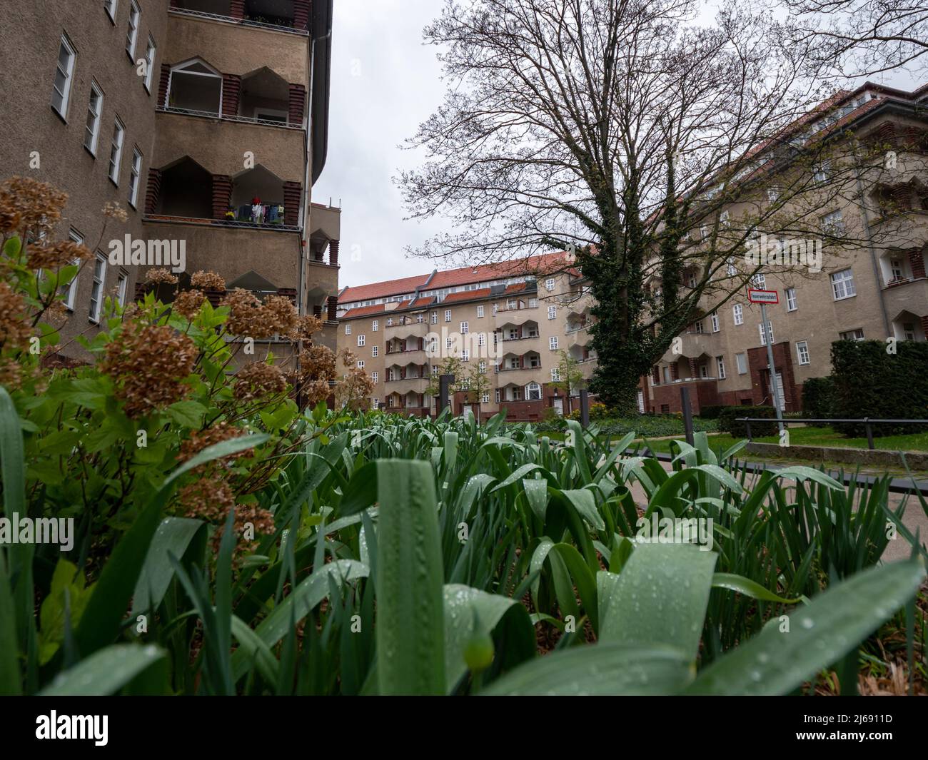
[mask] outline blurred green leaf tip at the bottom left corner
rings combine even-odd
[[[148,668],[167,663],[167,652],[152,644],[114,644],[59,673],[44,697],[102,697],[115,694]]]

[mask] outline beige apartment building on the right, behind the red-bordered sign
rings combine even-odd
[[[748,301],[747,288],[714,312],[706,300],[702,319],[680,335],[677,345],[642,379],[639,408],[679,411],[684,386],[690,388],[697,413],[702,406],[772,406],[770,340],[780,403],[785,411],[799,411],[803,382],[831,373],[833,341],[925,340],[926,105],[928,85],[909,93],[865,84],[833,98],[828,109],[809,115],[804,139],[825,129],[838,139],[842,130],[848,130],[864,144],[878,141],[891,148],[886,161],[867,166],[859,176],[851,174],[848,187],[816,212],[823,227],[857,230],[853,237],[869,243],[848,250],[820,239],[808,240],[820,251],[818,272],[802,264],[764,266],[751,287],[779,294],[780,303],[767,305],[769,337],[761,324],[760,306]],[[723,223],[737,225],[743,211],[738,206],[723,210]],[[776,231],[769,235],[777,237]],[[786,251],[787,241],[782,242]],[[732,266],[742,265],[731,262],[729,273],[734,274]],[[698,273],[690,271],[686,277],[695,279]],[[655,285],[659,287],[659,282]]]

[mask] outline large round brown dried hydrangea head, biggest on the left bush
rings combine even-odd
[[[197,346],[166,325],[127,325],[107,346],[100,368],[116,383],[116,397],[132,418],[170,406],[190,390]]]

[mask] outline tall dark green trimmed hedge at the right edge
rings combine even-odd
[[[896,353],[883,341],[831,343],[834,416],[877,419],[928,418],[928,342],[898,341]],[[859,423],[836,424],[848,436],[866,435]],[[874,425],[873,435],[922,432],[922,425]]]

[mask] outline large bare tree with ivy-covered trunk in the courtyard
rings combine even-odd
[[[767,15],[730,6],[704,28],[695,9],[447,0],[425,37],[444,48],[448,91],[409,141],[427,160],[399,179],[413,217],[456,230],[419,255],[576,251],[565,266],[595,299],[591,390],[628,412],[674,337],[759,271],[744,256],[758,231],[864,237],[823,228],[861,157],[808,129],[822,93],[806,46]]]

